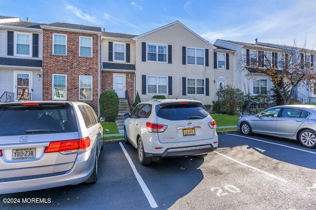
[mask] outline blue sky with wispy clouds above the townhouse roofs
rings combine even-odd
[[[211,43],[226,39],[316,49],[316,0],[0,0],[0,15],[141,35],[180,21]]]

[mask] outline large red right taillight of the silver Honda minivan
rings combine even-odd
[[[79,140],[61,140],[51,141],[45,149],[45,153],[49,152],[65,152],[71,150],[85,149],[90,146],[90,138],[82,138]]]

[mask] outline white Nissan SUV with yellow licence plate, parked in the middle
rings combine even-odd
[[[142,165],[152,157],[205,157],[217,148],[216,123],[199,101],[152,100],[124,116],[125,142]]]

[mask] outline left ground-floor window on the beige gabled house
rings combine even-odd
[[[147,76],[147,93],[166,95],[168,77],[166,76]]]

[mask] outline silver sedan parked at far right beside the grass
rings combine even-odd
[[[306,147],[316,147],[316,105],[281,105],[238,119],[237,129],[252,133],[299,140]]]

